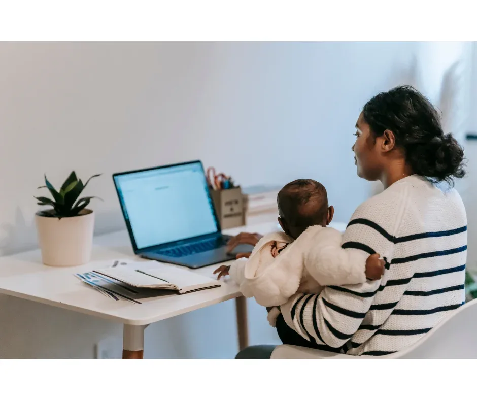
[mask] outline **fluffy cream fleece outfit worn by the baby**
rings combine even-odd
[[[342,234],[330,227],[311,226],[295,241],[274,232],[257,243],[248,259],[233,262],[229,274],[244,296],[255,297],[265,307],[280,306],[297,292],[319,293],[323,286],[365,282],[367,256],[350,259],[341,244]],[[279,314],[277,308],[269,312],[272,326]]]

